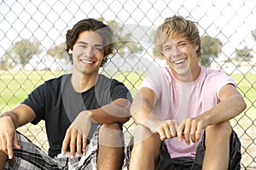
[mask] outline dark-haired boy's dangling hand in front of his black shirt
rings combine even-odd
[[[85,111],[79,113],[70,127],[67,128],[65,138],[62,142],[61,154],[65,155],[67,146],[70,146],[70,157],[74,158],[77,146],[77,156],[82,156],[86,150],[87,137],[90,132],[90,116]]]

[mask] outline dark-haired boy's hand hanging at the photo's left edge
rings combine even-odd
[[[0,150],[8,155],[9,159],[14,157],[12,144],[14,144],[17,150],[20,150],[12,118],[10,116],[3,116],[0,118]]]

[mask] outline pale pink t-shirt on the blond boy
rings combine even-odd
[[[141,88],[151,88],[157,95],[154,114],[162,120],[176,119],[181,122],[187,117],[199,116],[218,104],[218,92],[226,84],[236,83],[224,72],[201,67],[195,82],[179,82],[169,68],[151,73]],[[177,138],[166,139],[168,152],[172,158],[193,157],[197,143],[186,144]]]

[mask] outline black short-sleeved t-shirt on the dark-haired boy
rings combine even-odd
[[[29,94],[23,104],[36,113],[33,124],[45,121],[49,156],[55,156],[61,153],[67,127],[80,111],[97,109],[120,98],[131,101],[131,94],[122,82],[99,75],[96,85],[80,94],[73,90],[71,74],[68,74],[44,82]],[[91,124],[88,139],[91,139],[96,127],[97,123]]]

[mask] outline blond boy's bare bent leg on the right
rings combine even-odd
[[[230,127],[230,122],[221,122],[207,127],[205,132],[206,152],[202,169],[228,169],[231,133],[232,129]]]

